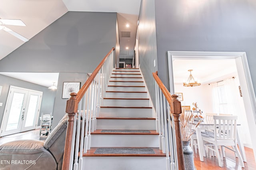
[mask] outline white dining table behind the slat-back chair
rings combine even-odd
[[[240,127],[241,124],[237,124],[237,128]],[[202,141],[202,132],[205,132],[208,127],[214,127],[214,121],[210,120],[204,120],[201,121],[201,123],[196,128],[196,139],[198,143],[198,153],[200,157],[200,161],[204,162],[204,147],[203,147],[203,141]],[[237,135],[237,144],[239,146],[240,154],[242,156],[242,159],[244,162],[247,162],[245,150],[244,150],[244,144],[239,138],[238,130],[236,129],[236,135]]]

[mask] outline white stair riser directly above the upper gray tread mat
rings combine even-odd
[[[151,119],[97,119],[96,129],[156,130],[156,121]]]

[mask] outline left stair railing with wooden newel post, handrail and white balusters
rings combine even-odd
[[[68,124],[62,170],[82,170],[82,154],[90,149],[90,135],[96,128],[96,116],[105,96],[113,68],[114,47],[66,104]],[[79,159],[78,159],[79,158]]]

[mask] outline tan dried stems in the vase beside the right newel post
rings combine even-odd
[[[191,139],[192,134],[196,131],[196,128],[201,123],[201,121],[194,123],[193,117],[194,115],[192,111],[184,111],[180,115],[180,130],[182,141],[189,141]]]

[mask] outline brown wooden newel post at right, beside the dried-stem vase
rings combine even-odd
[[[178,166],[179,170],[185,169],[184,164],[184,156],[182,150],[182,140],[181,140],[181,131],[180,131],[180,114],[181,111],[181,104],[180,101],[177,99],[178,95],[172,95],[172,104],[170,105],[171,113],[174,117],[174,129],[175,129],[175,136],[176,136],[176,144],[177,144],[177,155],[178,155]]]

